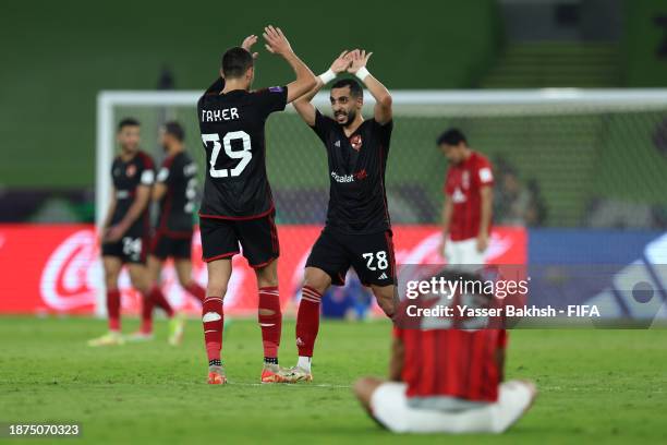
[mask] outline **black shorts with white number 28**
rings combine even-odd
[[[364,286],[396,285],[391,230],[345,234],[325,227],[311,250],[306,267],[323,269],[333,286],[343,286],[350,266]]]

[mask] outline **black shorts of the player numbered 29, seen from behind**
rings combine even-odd
[[[254,219],[199,218],[203,260],[232,257],[243,249],[251,267],[263,267],[280,254],[276,213]]]

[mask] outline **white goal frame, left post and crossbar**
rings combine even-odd
[[[184,107],[194,112],[202,92],[102,91],[97,96],[96,131],[96,226],[99,228],[110,197],[109,168],[116,152],[118,107]],[[629,110],[667,111],[667,88],[638,89],[497,89],[497,91],[397,91],[392,92],[395,116],[409,117],[488,117],[615,112]],[[365,95],[365,112],[373,98]],[[328,107],[328,95],[314,98],[320,108]],[[291,106],[288,112],[294,112]],[[193,113],[194,118],[194,113]],[[192,144],[192,141],[191,141]],[[199,147],[191,147],[191,149]],[[399,148],[401,149],[401,148]]]

